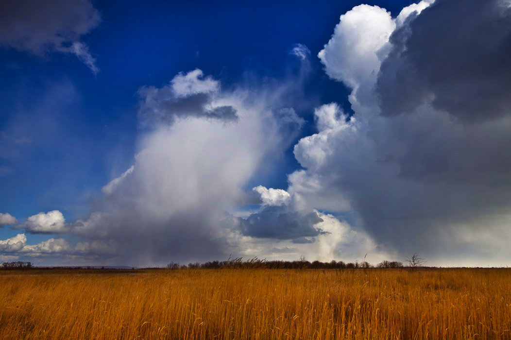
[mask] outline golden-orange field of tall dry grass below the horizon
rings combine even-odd
[[[510,269],[0,271],[0,338],[511,338]]]

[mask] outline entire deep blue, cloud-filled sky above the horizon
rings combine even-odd
[[[0,262],[511,263],[509,0],[0,3]]]

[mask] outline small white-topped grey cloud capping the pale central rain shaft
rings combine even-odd
[[[201,70],[180,73],[161,88],[144,86],[138,90],[138,115],[145,121],[172,125],[176,119],[204,117],[236,121],[236,109],[215,101],[220,84],[204,77]]]

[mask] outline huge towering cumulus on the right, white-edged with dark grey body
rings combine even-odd
[[[316,110],[318,132],[294,149],[306,170],[289,191],[355,213],[400,254],[501,264],[511,255],[509,37],[501,0],[342,15],[319,58],[353,88],[355,115]]]

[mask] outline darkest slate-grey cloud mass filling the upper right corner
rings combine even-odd
[[[436,1],[390,37],[376,90],[386,116],[425,102],[462,122],[511,112],[511,8],[504,1]]]

